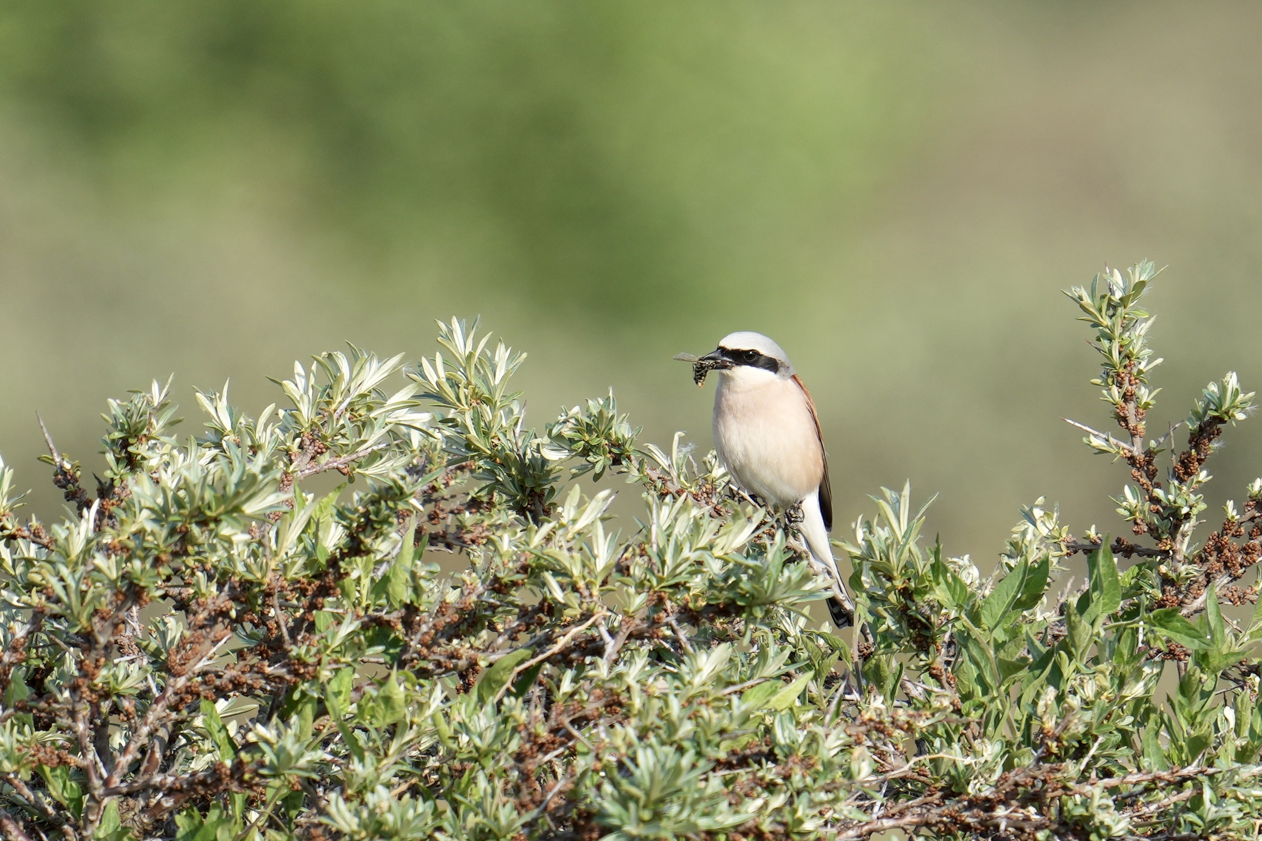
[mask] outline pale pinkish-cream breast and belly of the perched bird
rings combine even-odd
[[[723,377],[714,395],[714,444],[737,484],[777,508],[815,490],[824,477],[814,417],[791,380]]]

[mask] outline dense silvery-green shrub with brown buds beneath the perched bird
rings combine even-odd
[[[712,455],[637,443],[612,396],[526,427],[524,357],[457,322],[414,368],[295,366],[257,417],[199,393],[196,438],[158,383],[111,402],[95,488],[48,441],[61,522],[20,518],[0,475],[0,831],[1254,837],[1262,618],[1223,606],[1257,600],[1262,480],[1193,540],[1252,395],[1228,374],[1185,449],[1147,438],[1152,275],[1070,293],[1131,537],[1075,538],[1040,501],[986,577],[886,490],[844,545],[844,638]],[[635,485],[642,518],[613,531],[584,474]]]

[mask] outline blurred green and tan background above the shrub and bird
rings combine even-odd
[[[775,337],[837,518],[910,478],[983,569],[1017,508],[1118,531],[1061,416],[1108,425],[1059,290],[1170,269],[1153,426],[1262,386],[1262,6],[1182,3],[8,0],[0,453],[58,511],[34,414],[100,464],[106,397],[481,314],[540,426],[613,387],[711,446],[680,351]],[[1212,499],[1262,472],[1227,435]],[[1213,513],[1213,512],[1210,512]]]

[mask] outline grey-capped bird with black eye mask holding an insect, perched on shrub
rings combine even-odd
[[[799,531],[817,571],[833,580],[828,610],[838,628],[854,622],[854,606],[828,543],[833,496],[815,403],[779,344],[761,333],[732,333],[693,363],[704,385],[719,373],[714,393],[714,445],[736,484],[777,513],[799,508]]]

